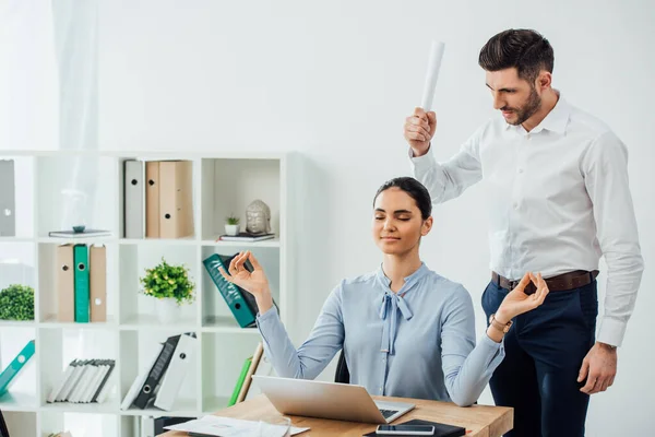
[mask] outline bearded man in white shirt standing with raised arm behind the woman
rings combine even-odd
[[[450,161],[430,146],[434,113],[405,122],[415,177],[434,203],[483,179],[487,188],[492,279],[483,295],[488,317],[521,279],[541,272],[550,295],[520,316],[504,340],[505,359],[490,386],[514,408],[513,437],[583,436],[590,394],[607,390],[617,346],[643,271],[628,187],[628,152],[602,121],[551,87],[553,52],[541,35],[509,29],[479,54],[493,108]],[[605,315],[596,340],[598,259],[608,265]],[[492,324],[510,320],[492,320]]]

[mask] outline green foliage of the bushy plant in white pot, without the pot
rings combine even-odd
[[[146,296],[172,298],[178,305],[193,302],[195,284],[189,279],[189,269],[184,265],[170,265],[162,257],[162,262],[145,269],[145,273],[139,281]]]

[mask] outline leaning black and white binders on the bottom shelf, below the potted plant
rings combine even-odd
[[[147,370],[134,379],[121,403],[121,410],[131,406],[171,410],[184,377],[191,374],[191,358],[196,344],[193,332],[169,336],[153,355]]]

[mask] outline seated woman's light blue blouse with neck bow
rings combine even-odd
[[[315,378],[343,347],[350,383],[369,393],[474,403],[504,351],[484,333],[476,346],[468,292],[425,264],[397,294],[382,268],[344,280],[296,350],[273,307],[257,319],[278,376]]]

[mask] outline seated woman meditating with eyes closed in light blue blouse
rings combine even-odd
[[[427,189],[413,178],[392,179],[378,190],[373,210],[373,239],[383,253],[382,264],[336,286],[298,350],[251,252],[233,260],[229,275],[221,273],[255,297],[266,356],[279,376],[313,379],[343,347],[350,382],[371,394],[471,405],[504,356],[505,326],[544,303],[546,283],[540,274],[526,273],[476,346],[468,292],[429,270],[419,257],[420,239],[432,227]],[[245,269],[246,260],[252,272]],[[537,291],[528,296],[524,290],[531,281]]]

